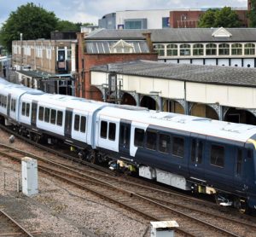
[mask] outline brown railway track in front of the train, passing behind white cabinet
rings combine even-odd
[[[23,151],[7,146],[0,146],[0,153],[18,161],[24,156]],[[180,226],[176,231],[183,236],[244,236],[245,232],[247,236],[254,236],[256,226],[253,223],[222,217],[212,214],[212,211],[197,211],[197,209],[203,209],[202,205],[189,207],[188,200],[187,203],[184,203],[185,198],[181,200],[182,195],[178,199],[183,205],[168,202],[173,194],[160,188],[150,188],[148,185],[143,186],[136,182],[125,182],[120,177],[106,173],[86,171],[85,174],[70,165],[63,165],[42,157],[37,159],[39,171],[44,171],[50,176],[90,191],[102,199],[108,199],[126,210],[137,213],[144,218],[145,222],[176,220]]]

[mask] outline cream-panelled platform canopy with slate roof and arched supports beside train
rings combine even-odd
[[[90,74],[92,86],[106,85],[104,101],[256,124],[255,68],[129,61]]]

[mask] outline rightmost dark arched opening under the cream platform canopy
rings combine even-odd
[[[224,116],[224,120],[231,123],[256,125],[256,117],[253,113],[243,109],[236,109],[235,107],[230,107]]]

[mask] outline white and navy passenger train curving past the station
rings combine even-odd
[[[256,208],[256,126],[51,95],[3,79],[0,119],[35,141],[76,147],[91,162],[214,194],[240,211]]]

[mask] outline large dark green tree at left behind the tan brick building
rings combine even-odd
[[[58,18],[53,12],[46,11],[33,3],[21,5],[15,12],[9,14],[0,30],[0,43],[11,52],[12,41],[20,39],[20,33],[25,40],[49,38],[55,31]]]

